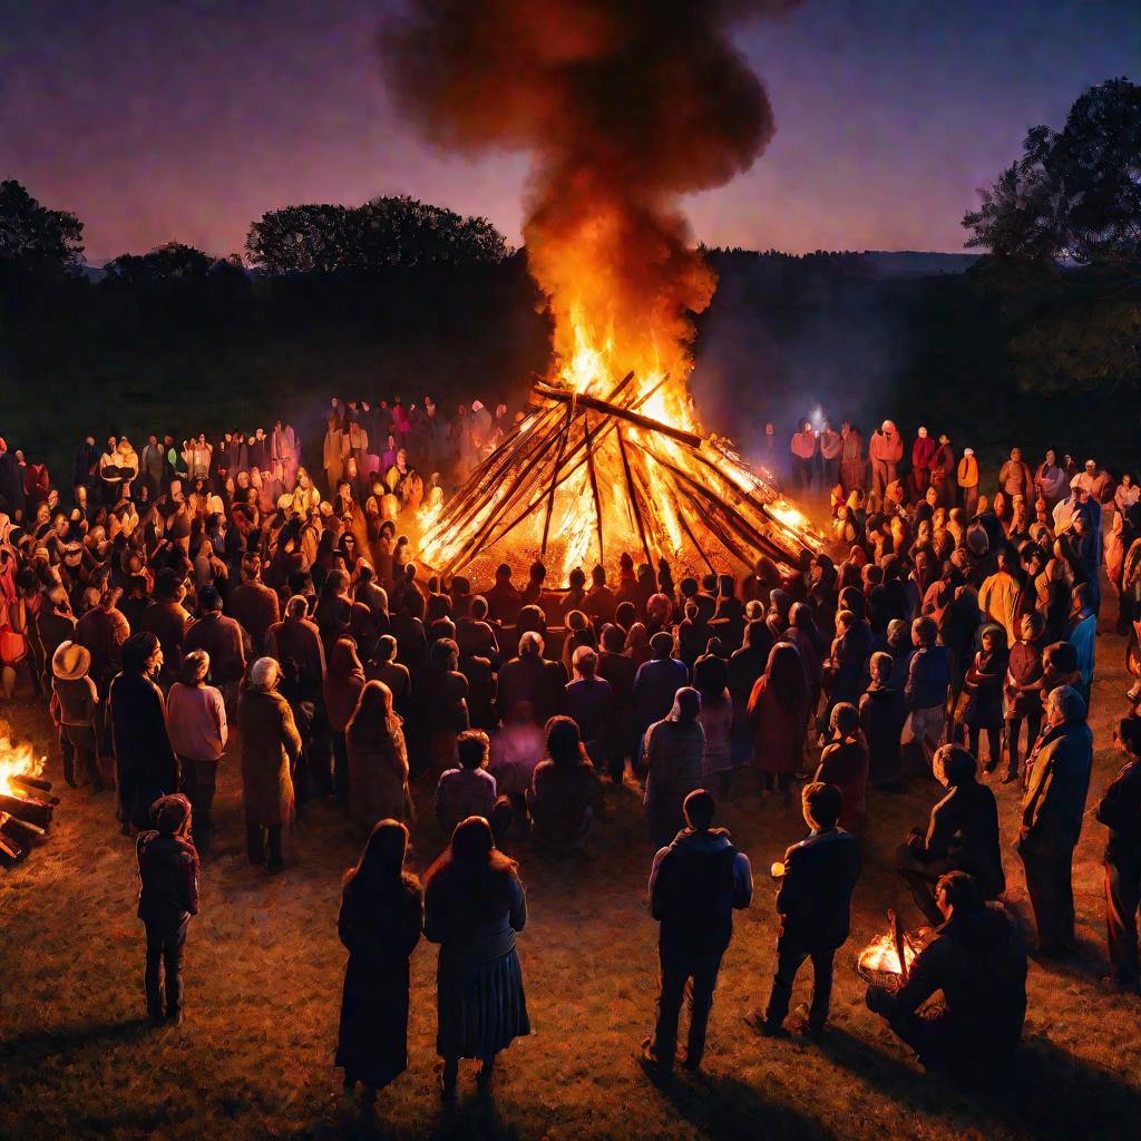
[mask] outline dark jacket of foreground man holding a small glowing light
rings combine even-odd
[[[851,900],[861,858],[856,837],[830,828],[785,852],[777,893],[780,938],[804,950],[834,950],[851,928]]]

